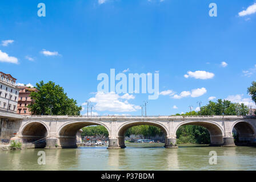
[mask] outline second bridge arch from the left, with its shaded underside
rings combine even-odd
[[[97,121],[69,121],[65,122],[65,124],[57,130],[57,138],[59,139],[58,145],[62,148],[76,148],[76,135],[78,130],[93,125],[104,126],[110,135],[110,129],[105,123]]]

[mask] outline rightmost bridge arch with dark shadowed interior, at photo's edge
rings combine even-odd
[[[231,126],[231,133],[235,134],[236,145],[249,145],[256,138],[256,129],[250,122],[239,120]]]

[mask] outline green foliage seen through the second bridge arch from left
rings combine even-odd
[[[85,136],[105,136],[109,137],[109,132],[104,126],[87,126],[82,128],[82,137]]]

